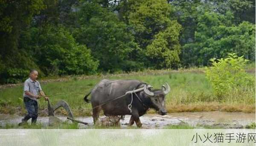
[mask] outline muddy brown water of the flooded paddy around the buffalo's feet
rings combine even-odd
[[[62,121],[69,121],[64,116],[56,116]],[[130,115],[126,115],[124,120],[120,121],[121,128],[126,128],[129,123]],[[100,117],[100,118],[103,118]],[[0,125],[6,123],[18,124],[22,117],[0,114]],[[89,123],[88,125],[79,124],[81,129],[92,128],[93,118],[91,116],[78,117],[80,121]],[[50,119],[51,120],[51,119]],[[140,117],[140,121],[145,129],[158,129],[167,125],[189,124],[191,126],[217,126],[226,129],[243,128],[252,122],[255,122],[255,113],[242,112],[177,112],[168,115],[147,114]],[[39,117],[38,122],[43,125],[49,124],[49,117]],[[70,121],[69,121],[70,122]],[[136,126],[135,124],[133,126]]]

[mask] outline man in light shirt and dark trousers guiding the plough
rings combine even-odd
[[[38,71],[31,70],[29,73],[29,79],[24,82],[23,101],[28,111],[28,114],[22,119],[19,125],[26,124],[27,121],[32,118],[31,123],[35,124],[38,117],[38,99],[44,97],[45,101],[48,97],[44,94],[39,81],[37,81]],[[38,95],[39,93],[39,95]]]

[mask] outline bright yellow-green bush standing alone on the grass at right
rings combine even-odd
[[[246,91],[254,87],[254,79],[244,70],[246,62],[243,56],[229,53],[228,58],[210,59],[212,67],[207,67],[206,76],[219,99],[227,93]]]

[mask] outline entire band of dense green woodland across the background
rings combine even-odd
[[[0,83],[255,62],[255,0],[1,0]]]

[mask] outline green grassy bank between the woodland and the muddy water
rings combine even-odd
[[[255,74],[251,74],[255,76]],[[255,87],[246,91],[227,93],[222,98],[217,97],[207,81],[204,69],[188,70],[156,70],[129,74],[99,75],[99,76],[69,76],[62,81],[41,81],[41,86],[47,95],[58,93],[76,93],[50,97],[52,104],[65,100],[70,105],[75,116],[91,115],[91,105],[83,101],[83,97],[101,79],[138,79],[151,84],[155,89],[164,82],[171,87],[166,95],[168,112],[198,112],[198,111],[228,111],[255,112]],[[0,113],[23,115],[23,85],[0,90]],[[47,102],[40,99],[40,115],[46,115]],[[149,110],[153,113],[154,110]],[[63,109],[58,114],[66,114]]]

